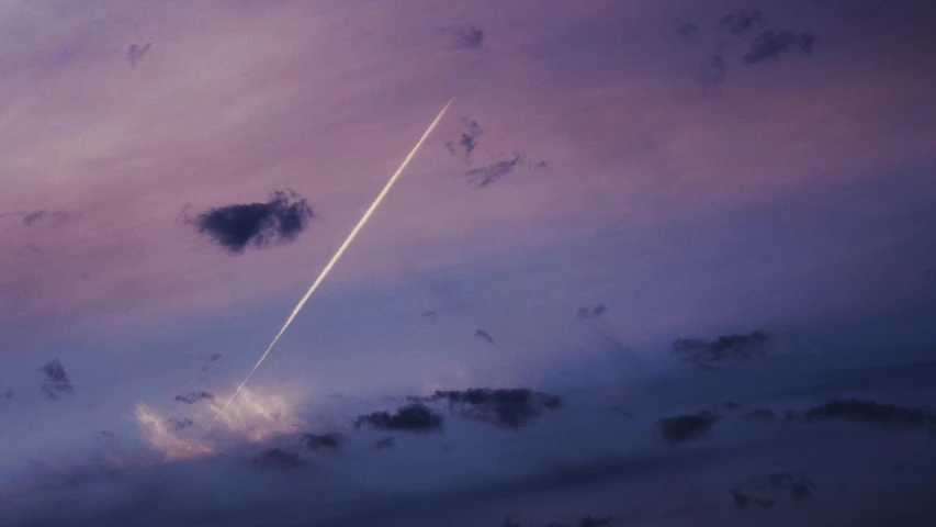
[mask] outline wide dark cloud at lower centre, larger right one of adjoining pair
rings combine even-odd
[[[557,395],[526,388],[437,391],[430,400],[447,401],[450,407],[460,410],[465,417],[514,429],[530,425],[543,413],[562,405]]]

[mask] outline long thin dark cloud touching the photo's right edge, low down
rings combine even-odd
[[[803,412],[800,417],[808,422],[850,421],[886,428],[936,427],[936,413],[931,410],[909,408],[854,399],[830,401],[813,406]]]

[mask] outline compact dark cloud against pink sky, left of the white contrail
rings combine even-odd
[[[297,200],[290,202],[290,198]],[[261,249],[273,242],[291,243],[314,214],[305,199],[290,191],[277,191],[267,203],[243,203],[210,209],[194,223],[199,232],[213,237],[222,248],[241,254],[248,245]]]

